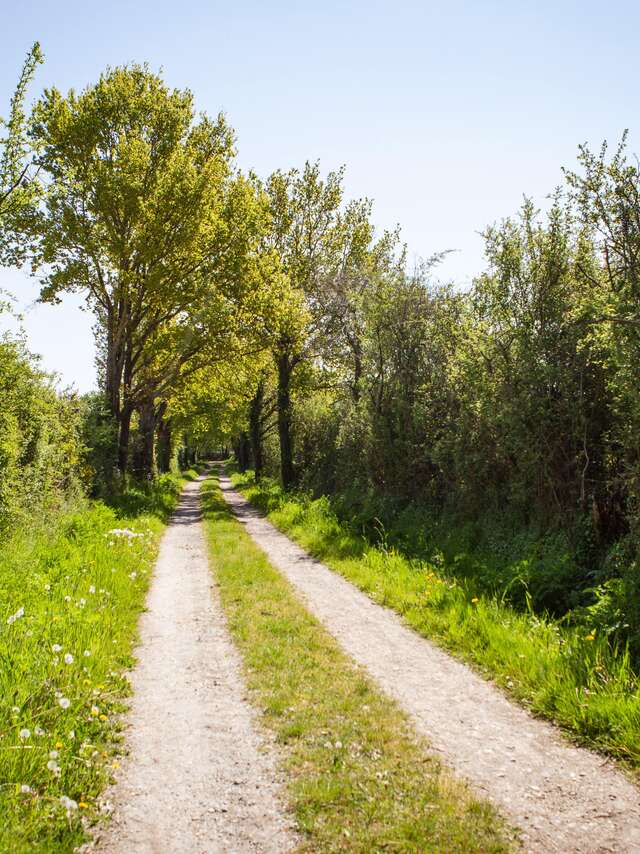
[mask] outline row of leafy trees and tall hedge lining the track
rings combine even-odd
[[[85,295],[104,470],[167,468],[177,437],[235,443],[285,488],[383,496],[565,532],[589,571],[640,498],[640,174],[580,150],[538,213],[485,232],[462,292],[318,164],[262,181],[222,116],[144,66],[30,115],[29,56],[0,164],[3,259],[42,299]],[[96,410],[97,411],[97,410]],[[97,419],[97,422],[100,418]],[[133,452],[132,452],[133,449]]]

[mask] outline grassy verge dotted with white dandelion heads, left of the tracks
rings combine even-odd
[[[159,534],[181,480],[33,524],[0,558],[0,851],[72,851],[117,767]]]

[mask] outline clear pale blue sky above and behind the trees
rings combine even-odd
[[[12,7],[12,8],[11,8]],[[640,148],[637,2],[135,0],[22,2],[0,12],[0,114],[31,43],[46,55],[32,94],[93,82],[106,65],[162,68],[199,109],[223,110],[239,164],[266,175],[320,158],[347,166],[410,253],[455,249],[441,275],[482,269],[478,232],[523,193],[544,205],[578,143],[631,131]],[[0,269],[20,305],[37,287]],[[44,366],[94,383],[90,315],[35,307],[25,326]]]

